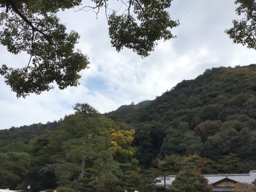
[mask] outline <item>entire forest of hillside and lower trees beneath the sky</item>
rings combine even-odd
[[[212,68],[155,100],[0,131],[0,188],[155,191],[158,175],[256,168],[256,65]],[[193,165],[191,165],[193,163]],[[196,167],[196,168],[195,168]]]

